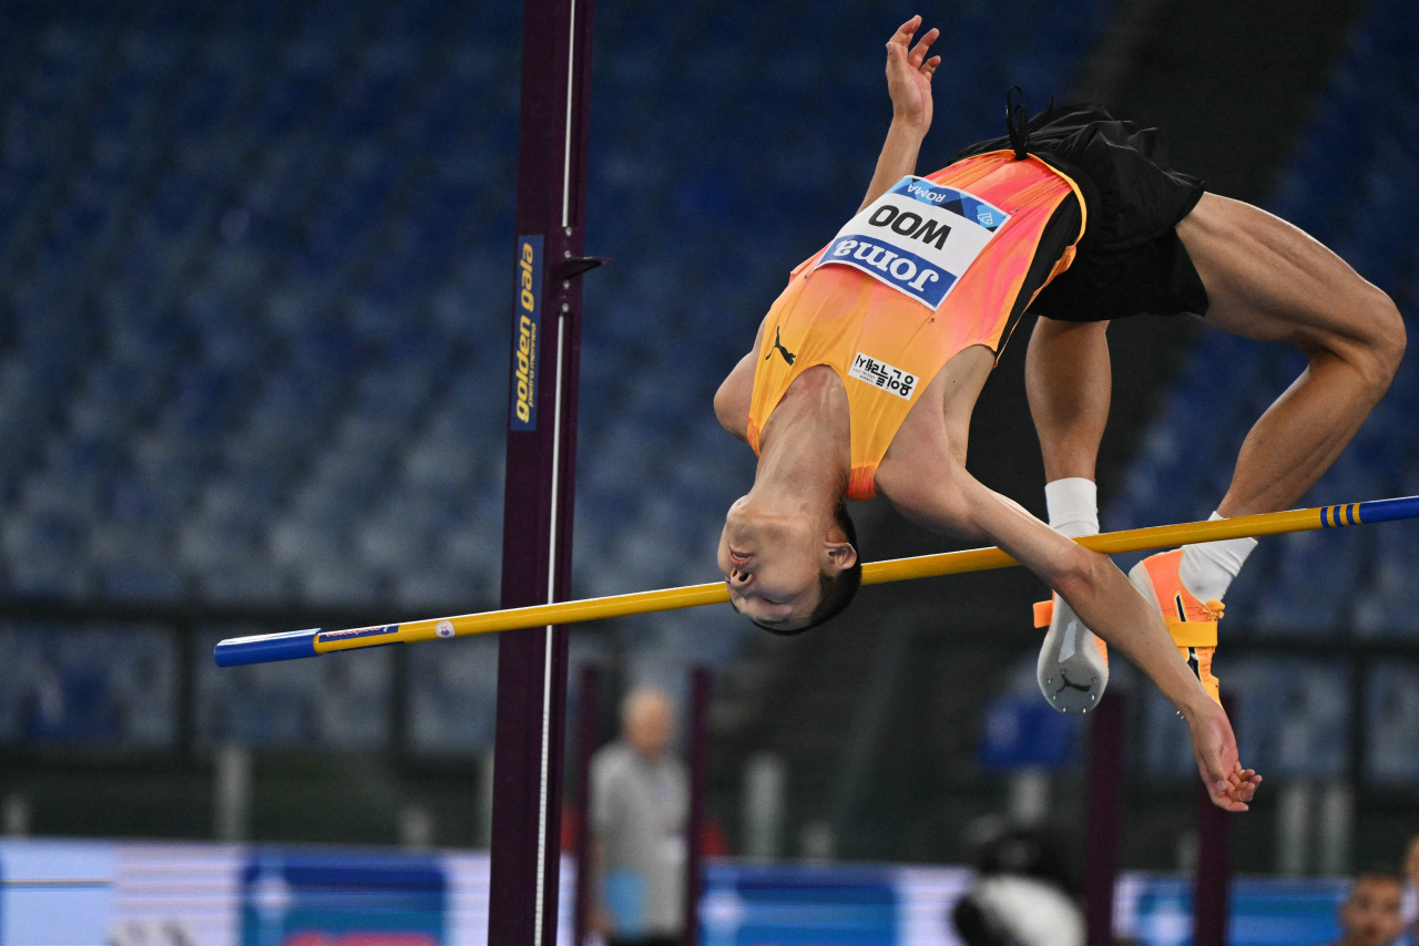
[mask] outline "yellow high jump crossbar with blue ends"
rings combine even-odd
[[[1171,526],[1149,526],[1145,529],[1124,529],[1097,536],[1077,539],[1086,549],[1117,555],[1121,552],[1144,552],[1175,545],[1193,545],[1219,539],[1243,539],[1284,532],[1308,532],[1311,529],[1335,529],[1341,526],[1395,522],[1419,518],[1419,496],[1398,499],[1375,499],[1338,506],[1315,506],[1313,509],[1291,509],[1287,512],[1264,512],[1236,519],[1212,522],[1183,522]],[[910,559],[888,559],[868,562],[863,566],[863,584],[885,581],[908,581],[964,572],[986,572],[1009,569],[1019,564],[1000,549],[966,549],[964,552],[942,552],[920,555]],[[724,581],[708,584],[687,584],[678,589],[634,591],[612,594],[579,601],[556,601],[531,607],[460,614],[455,617],[434,617],[403,624],[356,627],[342,631],[287,631],[281,634],[257,634],[236,637],[217,644],[213,657],[217,667],[238,667],[243,664],[268,664],[272,661],[318,657],[331,651],[349,651],[360,647],[385,647],[387,644],[413,644],[436,641],[470,634],[495,634],[555,624],[579,624],[599,621],[627,614],[651,611],[674,611],[705,604],[725,604],[729,590]]]

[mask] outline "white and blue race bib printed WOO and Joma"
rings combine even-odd
[[[856,267],[937,309],[1009,218],[964,190],[902,177],[837,231],[817,265]]]

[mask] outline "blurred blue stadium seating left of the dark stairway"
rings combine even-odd
[[[952,11],[934,146],[998,133],[1013,82],[1064,88],[1107,10]],[[1039,28],[1012,27],[1026,13]],[[890,118],[897,24],[870,4],[673,4],[653,31],[640,16],[597,9],[587,231],[616,262],[586,281],[585,594],[714,576],[752,455],[712,391],[856,207]],[[0,7],[4,594],[495,603],[518,44],[517,4]],[[0,628],[0,652],[35,667],[7,675],[0,719],[43,674],[109,678],[105,647],[70,654],[54,630]],[[656,675],[728,660],[742,628],[705,613],[627,633]],[[382,660],[339,679],[301,667],[295,686],[294,669],[217,675],[197,651],[206,739],[385,739],[322,709],[350,692],[383,706]],[[490,657],[413,658],[419,745],[487,745]],[[129,738],[16,722],[0,740],[26,732]]]

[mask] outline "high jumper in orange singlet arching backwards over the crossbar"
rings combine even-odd
[[[719,543],[731,603],[775,633],[840,613],[861,580],[843,499],[880,492],[914,522],[998,543],[1056,591],[1040,657],[1046,695],[1053,672],[1073,671],[1097,699],[1107,664],[1093,628],[1188,720],[1212,800],[1244,810],[1260,777],[1239,764],[1210,674],[1225,581],[1198,581],[1175,550],[1141,563],[1131,583],[1066,538],[1088,529],[1051,529],[985,488],[965,469],[971,414],[1019,318],[1044,316],[1027,384],[1051,512],[1059,494],[1087,519],[1076,511],[1091,512],[1108,413],[1108,319],[1192,312],[1237,335],[1290,340],[1311,366],[1253,428],[1219,508],[1269,512],[1315,482],[1388,389],[1403,322],[1335,254],[1205,193],[1162,163],[1155,132],[1097,106],[1029,121],[1007,101],[1006,139],[917,177],[941,62],[927,55],[937,30],[912,47],[920,27],[912,17],[887,44],[893,122],[858,213],[793,269],[715,394],[721,424],[759,457]],[[1200,560],[1235,574],[1249,543],[1215,543]],[[1070,708],[1069,695],[1056,696]]]

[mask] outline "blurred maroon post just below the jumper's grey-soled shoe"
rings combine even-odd
[[[1088,946],[1114,946],[1114,885],[1122,834],[1124,712],[1108,694],[1088,723],[1088,837],[1084,842],[1084,922]]]

